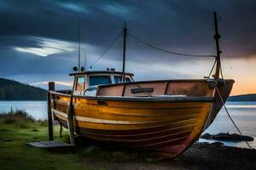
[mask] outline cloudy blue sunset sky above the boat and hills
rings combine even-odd
[[[216,11],[224,78],[236,81],[231,94],[256,94],[255,8],[253,0],[0,0],[0,77],[41,88],[54,81],[68,88],[79,42],[86,70],[121,71],[124,22],[129,35],[159,48],[215,55]],[[135,80],[203,78],[212,68],[212,58],[167,54],[131,36],[126,71]]]

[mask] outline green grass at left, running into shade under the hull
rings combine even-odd
[[[55,134],[59,134],[55,125]],[[1,169],[104,169],[102,162],[154,162],[156,157],[136,150],[124,150],[97,144],[89,140],[72,152],[60,153],[29,147],[27,142],[47,140],[46,121],[36,121],[25,111],[11,111],[0,115]],[[79,138],[78,138],[79,139]],[[68,131],[55,140],[68,142]]]

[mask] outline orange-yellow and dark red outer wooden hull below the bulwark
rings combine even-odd
[[[207,127],[214,105],[214,89],[209,90],[212,92],[207,97],[182,99],[74,96],[75,130],[89,139],[152,150],[173,158],[193,144]],[[53,95],[52,113],[64,127],[69,100],[69,95]]]

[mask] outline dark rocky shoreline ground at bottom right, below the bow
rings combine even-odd
[[[183,155],[174,160],[155,163],[112,163],[111,170],[167,170],[167,169],[256,169],[256,150],[220,146],[216,144],[193,144]]]

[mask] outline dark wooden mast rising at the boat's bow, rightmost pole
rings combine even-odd
[[[213,13],[214,15],[214,27],[215,27],[215,35],[214,35],[214,39],[215,39],[215,43],[216,43],[216,52],[217,52],[217,55],[216,55],[216,71],[215,71],[215,74],[214,74],[214,80],[217,80],[219,78],[219,71],[220,71],[220,54],[221,54],[221,51],[219,50],[219,43],[218,43],[218,39],[220,38],[220,35],[218,34],[218,20],[217,20],[217,14],[216,12]]]

